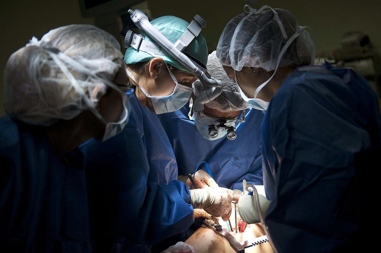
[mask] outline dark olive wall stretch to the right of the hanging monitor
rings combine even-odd
[[[381,0],[148,0],[148,3],[154,18],[176,15],[191,21],[195,14],[204,18],[207,27],[202,35],[210,51],[215,50],[226,23],[243,13],[245,4],[257,9],[270,5],[291,11],[299,25],[311,27],[319,51],[339,48],[343,33],[355,30],[368,34],[381,51]]]

